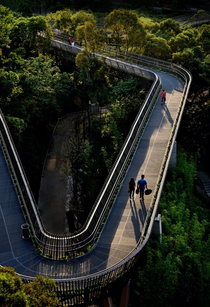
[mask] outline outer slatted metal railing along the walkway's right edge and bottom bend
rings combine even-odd
[[[127,56],[127,54],[124,56]],[[136,61],[137,60],[136,57],[133,60]],[[147,63],[150,67],[154,67],[154,64],[157,64],[158,65],[157,67],[160,69],[160,62],[157,59],[154,62],[154,59],[151,58],[146,59],[145,57],[143,57],[140,58],[139,61]],[[166,68],[167,64],[168,64],[167,62],[162,63],[163,70],[167,69]],[[143,252],[145,244],[149,239],[149,236],[153,228],[154,218],[157,212],[160,195],[164,184],[165,176],[167,173],[171,153],[173,150],[173,145],[176,139],[176,135],[180,125],[180,120],[184,111],[184,105],[186,103],[189,87],[192,80],[191,74],[182,67],[174,65],[168,69],[172,70],[173,74],[176,74],[179,78],[181,78],[184,81],[185,87],[182,99],[180,101],[180,107],[177,112],[176,119],[174,121],[174,125],[172,128],[172,133],[168,141],[168,147],[164,155],[162,169],[160,171],[156,185],[156,192],[151,207],[149,209],[148,215],[151,216],[144,242],[140,246],[138,246],[137,250],[134,251],[133,254],[127,257],[124,261],[119,262],[114,267],[111,267],[103,272],[101,271],[98,274],[84,276],[82,278],[71,278],[70,280],[65,280],[65,282],[56,281],[57,288],[55,289],[55,291],[57,292],[57,296],[60,297],[61,305],[63,304],[71,306],[81,303],[84,303],[85,305],[91,305],[97,301],[101,301],[102,299],[104,299],[108,295],[107,293],[109,293],[110,295],[110,293],[116,291],[117,284],[119,286],[119,284],[121,284],[122,282],[121,277],[124,276],[130,270],[130,268],[138,261]]]

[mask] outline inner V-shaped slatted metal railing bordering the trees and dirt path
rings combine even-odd
[[[62,51],[77,54],[81,50],[77,47],[68,46],[60,41],[52,41],[53,46],[56,48],[62,48]],[[68,49],[68,50],[67,50]],[[100,59],[100,56],[97,56]],[[140,69],[137,65],[133,65],[132,68],[129,63],[114,60],[109,57],[106,58],[108,64],[114,68],[122,69],[126,72],[136,74],[143,78],[153,80],[153,86],[151,87],[143,107],[139,111],[139,114],[130,130],[130,133],[121,149],[113,168],[111,169],[105,184],[97,197],[97,200],[89,214],[85,225],[80,231],[77,231],[71,235],[54,235],[46,231],[41,216],[39,214],[37,205],[29,188],[28,181],[25,173],[22,169],[21,162],[19,160],[15,146],[11,140],[10,133],[1,114],[1,130],[2,139],[5,147],[7,148],[7,154],[10,159],[10,164],[13,167],[13,172],[18,182],[18,188],[21,192],[22,202],[26,208],[26,215],[29,219],[30,230],[34,239],[35,245],[40,249],[44,256],[49,258],[63,258],[69,253],[73,256],[80,253],[80,251],[86,251],[86,247],[91,244],[98,233],[101,220],[104,218],[106,209],[112,199],[115,188],[117,187],[121,174],[125,169],[125,165],[129,160],[129,156],[132,152],[132,148],[135,144],[137,135],[143,126],[144,120],[149,112],[149,109],[153,103],[153,99],[157,94],[160,87],[160,78],[158,78],[153,72],[149,72],[144,69]]]

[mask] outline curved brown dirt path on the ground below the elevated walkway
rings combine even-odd
[[[65,138],[71,119],[72,115],[67,115],[57,124],[47,155],[39,195],[39,210],[45,228],[57,235],[69,233],[65,214],[67,188],[63,182],[66,176],[56,164],[58,157],[62,157],[64,153]]]

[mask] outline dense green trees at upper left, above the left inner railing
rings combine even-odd
[[[23,18],[3,6],[0,12],[0,107],[36,191],[51,125],[73,106],[72,78],[53,65],[51,29],[44,17]]]

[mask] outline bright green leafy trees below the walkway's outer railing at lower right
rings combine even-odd
[[[193,194],[195,166],[179,149],[160,200],[161,241],[150,240],[141,258],[135,290],[141,306],[208,306],[210,216]]]

